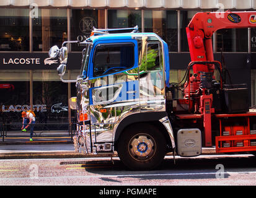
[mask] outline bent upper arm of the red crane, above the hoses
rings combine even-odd
[[[212,36],[217,30],[247,27],[256,27],[256,12],[198,12],[186,28],[191,60],[214,61]],[[193,72],[213,72],[213,69],[195,65]]]

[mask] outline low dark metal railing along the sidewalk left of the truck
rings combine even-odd
[[[69,136],[73,141],[74,130],[76,124],[74,123],[35,123],[29,124],[34,126],[33,137],[53,137],[58,134],[58,137],[63,135]],[[0,138],[4,142],[6,137],[24,137],[24,134],[30,133],[30,127],[27,132],[21,132],[22,123],[0,124]]]

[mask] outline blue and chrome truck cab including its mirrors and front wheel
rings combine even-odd
[[[94,29],[79,43],[84,49],[76,80],[64,80],[63,75],[66,45],[77,41],[65,41],[61,49],[53,46],[49,56],[60,59],[61,81],[76,82],[77,97],[69,100],[77,111],[76,152],[117,151],[128,168],[149,170],[175,149],[166,113],[169,54],[166,42],[155,33],[138,33],[138,27],[121,30],[130,29]]]

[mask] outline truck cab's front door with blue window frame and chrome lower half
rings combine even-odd
[[[139,102],[138,49],[134,40],[98,43],[89,69],[90,121],[95,142],[112,141],[113,124],[128,103]],[[128,75],[128,71],[136,71]],[[137,77],[136,77],[137,76]]]

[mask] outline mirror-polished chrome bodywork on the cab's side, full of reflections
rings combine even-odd
[[[148,45],[149,40],[153,41],[152,45]],[[143,36],[138,38],[138,45],[138,68],[77,82],[77,101],[81,107],[77,114],[88,113],[91,124],[77,126],[74,137],[77,152],[113,152],[115,133],[123,119],[136,113],[166,111],[165,63],[160,50],[163,43],[157,37]],[[151,67],[147,57],[156,53],[157,63]],[[175,147],[169,119],[159,121],[166,127]]]

